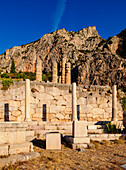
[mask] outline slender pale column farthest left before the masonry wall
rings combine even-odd
[[[31,121],[30,118],[30,80],[25,80],[25,121]]]

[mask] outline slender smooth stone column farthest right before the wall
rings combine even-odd
[[[117,121],[117,90],[116,85],[112,87],[112,121]]]

